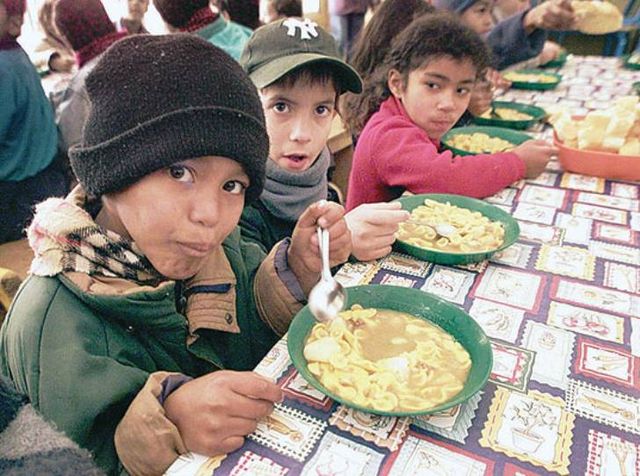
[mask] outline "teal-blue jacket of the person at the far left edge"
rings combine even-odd
[[[40,76],[24,50],[0,50],[0,181],[21,181],[47,168],[58,133]]]

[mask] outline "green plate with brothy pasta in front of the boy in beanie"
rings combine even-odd
[[[347,307],[318,323],[308,307],[287,345],[302,377],[332,399],[387,416],[436,413],[481,390],[493,366],[489,339],[462,309],[424,291],[347,289]]]

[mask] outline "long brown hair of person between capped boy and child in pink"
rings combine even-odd
[[[365,84],[373,77],[376,68],[384,62],[393,39],[409,23],[421,15],[435,12],[435,8],[424,0],[385,0],[364,27],[353,50],[351,65],[360,74]],[[364,127],[358,111],[370,96],[347,93],[340,103],[340,114],[351,133],[358,136]]]

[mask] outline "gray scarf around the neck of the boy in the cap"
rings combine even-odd
[[[289,172],[267,160],[267,178],[260,201],[277,218],[297,221],[314,202],[327,198],[327,170],[331,153],[325,147],[304,172]]]

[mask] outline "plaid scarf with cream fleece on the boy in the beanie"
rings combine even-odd
[[[98,226],[83,208],[80,186],[67,198],[49,198],[36,207],[27,230],[35,258],[30,273],[54,276],[79,272],[157,284],[164,278],[136,244]]]

